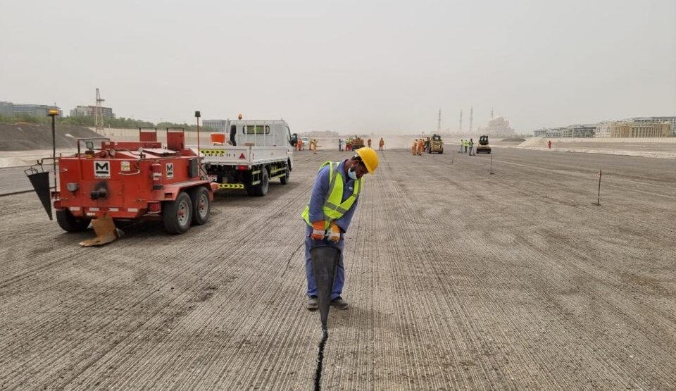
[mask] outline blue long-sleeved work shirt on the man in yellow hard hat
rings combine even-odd
[[[340,162],[338,164],[338,169],[337,172],[339,175],[342,175],[343,177],[343,198],[341,201],[345,201],[347,197],[350,197],[352,195],[352,192],[354,190],[354,182],[352,178],[347,176],[345,174],[345,162],[346,160]],[[324,206],[324,201],[328,197],[328,192],[329,192],[329,171],[331,167],[330,166],[324,166],[321,170],[319,170],[319,173],[317,173],[317,179],[315,179],[315,185],[312,188],[312,194],[310,196],[310,203],[308,204],[310,206],[310,222],[312,223],[313,221],[320,221],[324,220],[324,211],[323,211],[323,206]],[[350,226],[350,222],[352,221],[352,216],[354,214],[354,210],[357,208],[357,202],[359,201],[359,197],[354,201],[352,204],[352,207],[339,219],[335,220],[334,223],[336,223],[340,229],[343,232],[347,232],[347,228]],[[308,232],[312,232],[312,227],[310,225],[307,226]]]

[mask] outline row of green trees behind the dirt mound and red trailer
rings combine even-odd
[[[18,114],[14,116],[7,116],[0,114],[0,123],[32,123],[35,125],[40,124],[50,124],[51,118],[42,117],[42,116],[30,116],[28,114]],[[94,117],[93,116],[77,116],[77,117],[58,117],[56,118],[56,124],[58,125],[80,125],[86,126],[87,128],[94,128]],[[104,118],[104,127],[105,128],[118,128],[118,129],[137,129],[137,128],[185,128],[187,131],[196,131],[197,125],[188,125],[187,123],[171,123],[171,122],[161,122],[161,123],[151,123],[146,120],[137,120],[134,118]],[[210,128],[204,128],[200,126],[200,130],[205,132],[211,132]]]

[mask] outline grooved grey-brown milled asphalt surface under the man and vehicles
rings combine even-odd
[[[0,197],[0,389],[311,390],[299,214],[319,164],[347,156],[297,154],[267,197],[220,194],[185,235],[137,223],[101,248],[34,194]],[[323,390],[675,389],[676,162],[490,159],[381,155]]]

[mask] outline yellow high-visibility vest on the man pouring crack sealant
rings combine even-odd
[[[323,205],[324,230],[329,229],[329,225],[331,224],[332,221],[338,220],[345,213],[347,213],[347,211],[349,211],[354,202],[357,200],[357,197],[359,197],[359,193],[361,192],[362,186],[361,178],[355,180],[352,194],[350,195],[350,197],[347,197],[345,201],[342,201],[344,183],[343,183],[343,175],[340,175],[340,173],[338,172],[339,163],[327,161],[320,166],[319,170],[322,170],[322,168],[324,168],[324,166],[327,165],[330,166],[329,191],[327,193],[327,197],[324,200]],[[305,222],[308,223],[308,225],[312,225],[312,222],[310,221],[310,204],[306,205],[301,216],[303,216],[303,220],[305,220]]]

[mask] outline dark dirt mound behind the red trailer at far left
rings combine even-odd
[[[77,125],[56,125],[56,148],[75,147],[82,137],[100,137],[88,128]],[[51,124],[0,123],[0,151],[51,149]]]

